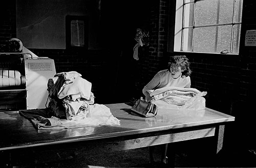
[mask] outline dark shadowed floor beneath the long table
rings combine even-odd
[[[175,167],[256,167],[256,155],[232,145],[222,150],[215,162],[208,157],[208,140],[192,140],[175,144]],[[16,167],[166,167],[161,164],[160,146],[155,147],[155,162],[150,163],[148,148],[97,154],[73,150],[27,151],[14,156]]]

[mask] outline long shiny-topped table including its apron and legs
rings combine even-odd
[[[41,131],[18,111],[0,113],[0,151],[6,157],[5,165],[11,167],[11,154],[16,150],[84,144],[84,150],[95,152],[129,150],[166,143],[214,137],[214,152],[223,146],[224,126],[234,117],[206,108],[200,111],[159,109],[155,117],[140,117],[124,103],[108,104],[120,125],[81,127],[61,131]],[[44,148],[41,148],[44,149]],[[171,157],[172,154],[169,154]],[[169,164],[174,165],[169,159]]]

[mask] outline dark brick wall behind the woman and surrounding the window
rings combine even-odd
[[[0,44],[16,37],[14,0],[0,5]],[[128,102],[142,96],[143,86],[158,70],[164,69],[168,30],[174,22],[169,1],[101,1],[101,35],[104,46],[95,50],[31,49],[41,57],[54,59],[57,73],[75,70],[92,82],[95,102]],[[236,116],[230,126],[239,137],[253,134],[255,110],[256,47],[244,46],[246,30],[256,29],[256,2],[244,1],[239,55],[184,53],[191,62],[191,87],[207,91],[206,106]],[[169,14],[171,14],[169,16]],[[28,18],[29,19],[29,18]],[[171,20],[170,22],[168,20]],[[150,46],[141,47],[139,60],[133,59],[136,29],[150,32]],[[89,32],[90,33],[90,32]],[[22,39],[21,39],[22,40]]]

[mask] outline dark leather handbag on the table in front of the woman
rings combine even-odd
[[[144,117],[152,117],[157,115],[157,106],[151,102],[145,101],[142,98],[136,101],[131,110]]]

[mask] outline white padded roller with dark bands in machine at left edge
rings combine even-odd
[[[0,70],[0,87],[19,86],[24,84],[26,80],[17,70]]]

